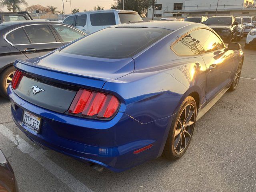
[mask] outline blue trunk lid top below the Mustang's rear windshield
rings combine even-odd
[[[26,60],[26,63],[39,68],[96,78],[102,81],[115,80],[134,71],[132,58],[96,58],[59,51]]]

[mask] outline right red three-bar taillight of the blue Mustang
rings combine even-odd
[[[118,99],[111,94],[80,89],[68,113],[106,119],[116,114],[119,105]]]

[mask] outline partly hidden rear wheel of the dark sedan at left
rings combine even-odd
[[[14,72],[14,66],[10,66],[0,74],[0,95],[2,95],[4,98],[8,98],[6,85],[10,84]]]

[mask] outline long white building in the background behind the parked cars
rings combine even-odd
[[[255,0],[157,0],[154,6],[154,17],[187,17],[187,16],[256,16]],[[153,9],[148,9],[148,18],[152,18]]]

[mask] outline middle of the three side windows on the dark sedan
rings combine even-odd
[[[56,42],[48,25],[31,25],[24,27],[32,43]]]

